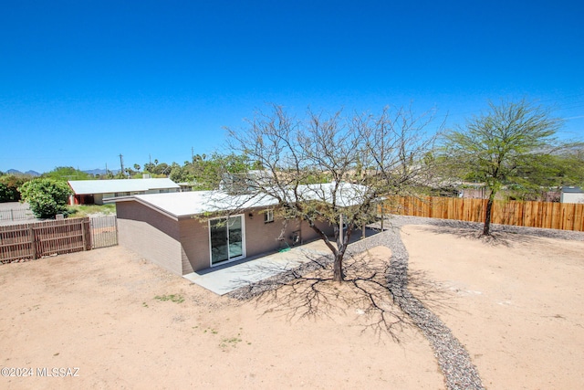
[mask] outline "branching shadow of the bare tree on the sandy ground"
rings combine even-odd
[[[255,300],[264,312],[284,315],[288,321],[344,316],[362,332],[378,337],[388,334],[401,341],[404,327],[415,327],[401,311],[389,288],[390,251],[365,251],[344,260],[345,281],[332,280],[332,261],[327,257],[308,258],[296,269],[242,286],[229,294],[238,300]],[[268,268],[271,266],[267,266]],[[272,271],[274,269],[270,269]],[[408,273],[408,289],[429,307],[449,307],[448,290],[428,279],[422,271]]]

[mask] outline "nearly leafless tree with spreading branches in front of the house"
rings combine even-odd
[[[342,281],[353,229],[375,219],[383,196],[429,182],[433,160],[425,157],[435,135],[425,129],[432,121],[432,112],[415,116],[403,108],[352,117],[308,111],[297,119],[274,105],[245,129],[228,130],[231,149],[263,168],[247,178],[245,191],[275,198],[276,213],[287,220],[306,221],[334,256],[333,279]],[[328,222],[334,238],[318,222]]]

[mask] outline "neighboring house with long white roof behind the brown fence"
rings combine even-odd
[[[118,196],[174,193],[180,186],[171,179],[69,180],[74,195],[70,205],[103,205]]]

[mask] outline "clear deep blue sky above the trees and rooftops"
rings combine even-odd
[[[4,2],[0,171],[183,163],[267,103],[454,126],[527,98],[582,139],[583,17],[581,0]]]

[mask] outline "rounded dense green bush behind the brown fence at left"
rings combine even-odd
[[[19,191],[37,218],[54,218],[66,213],[68,196],[73,193],[66,182],[50,178],[26,182]]]

